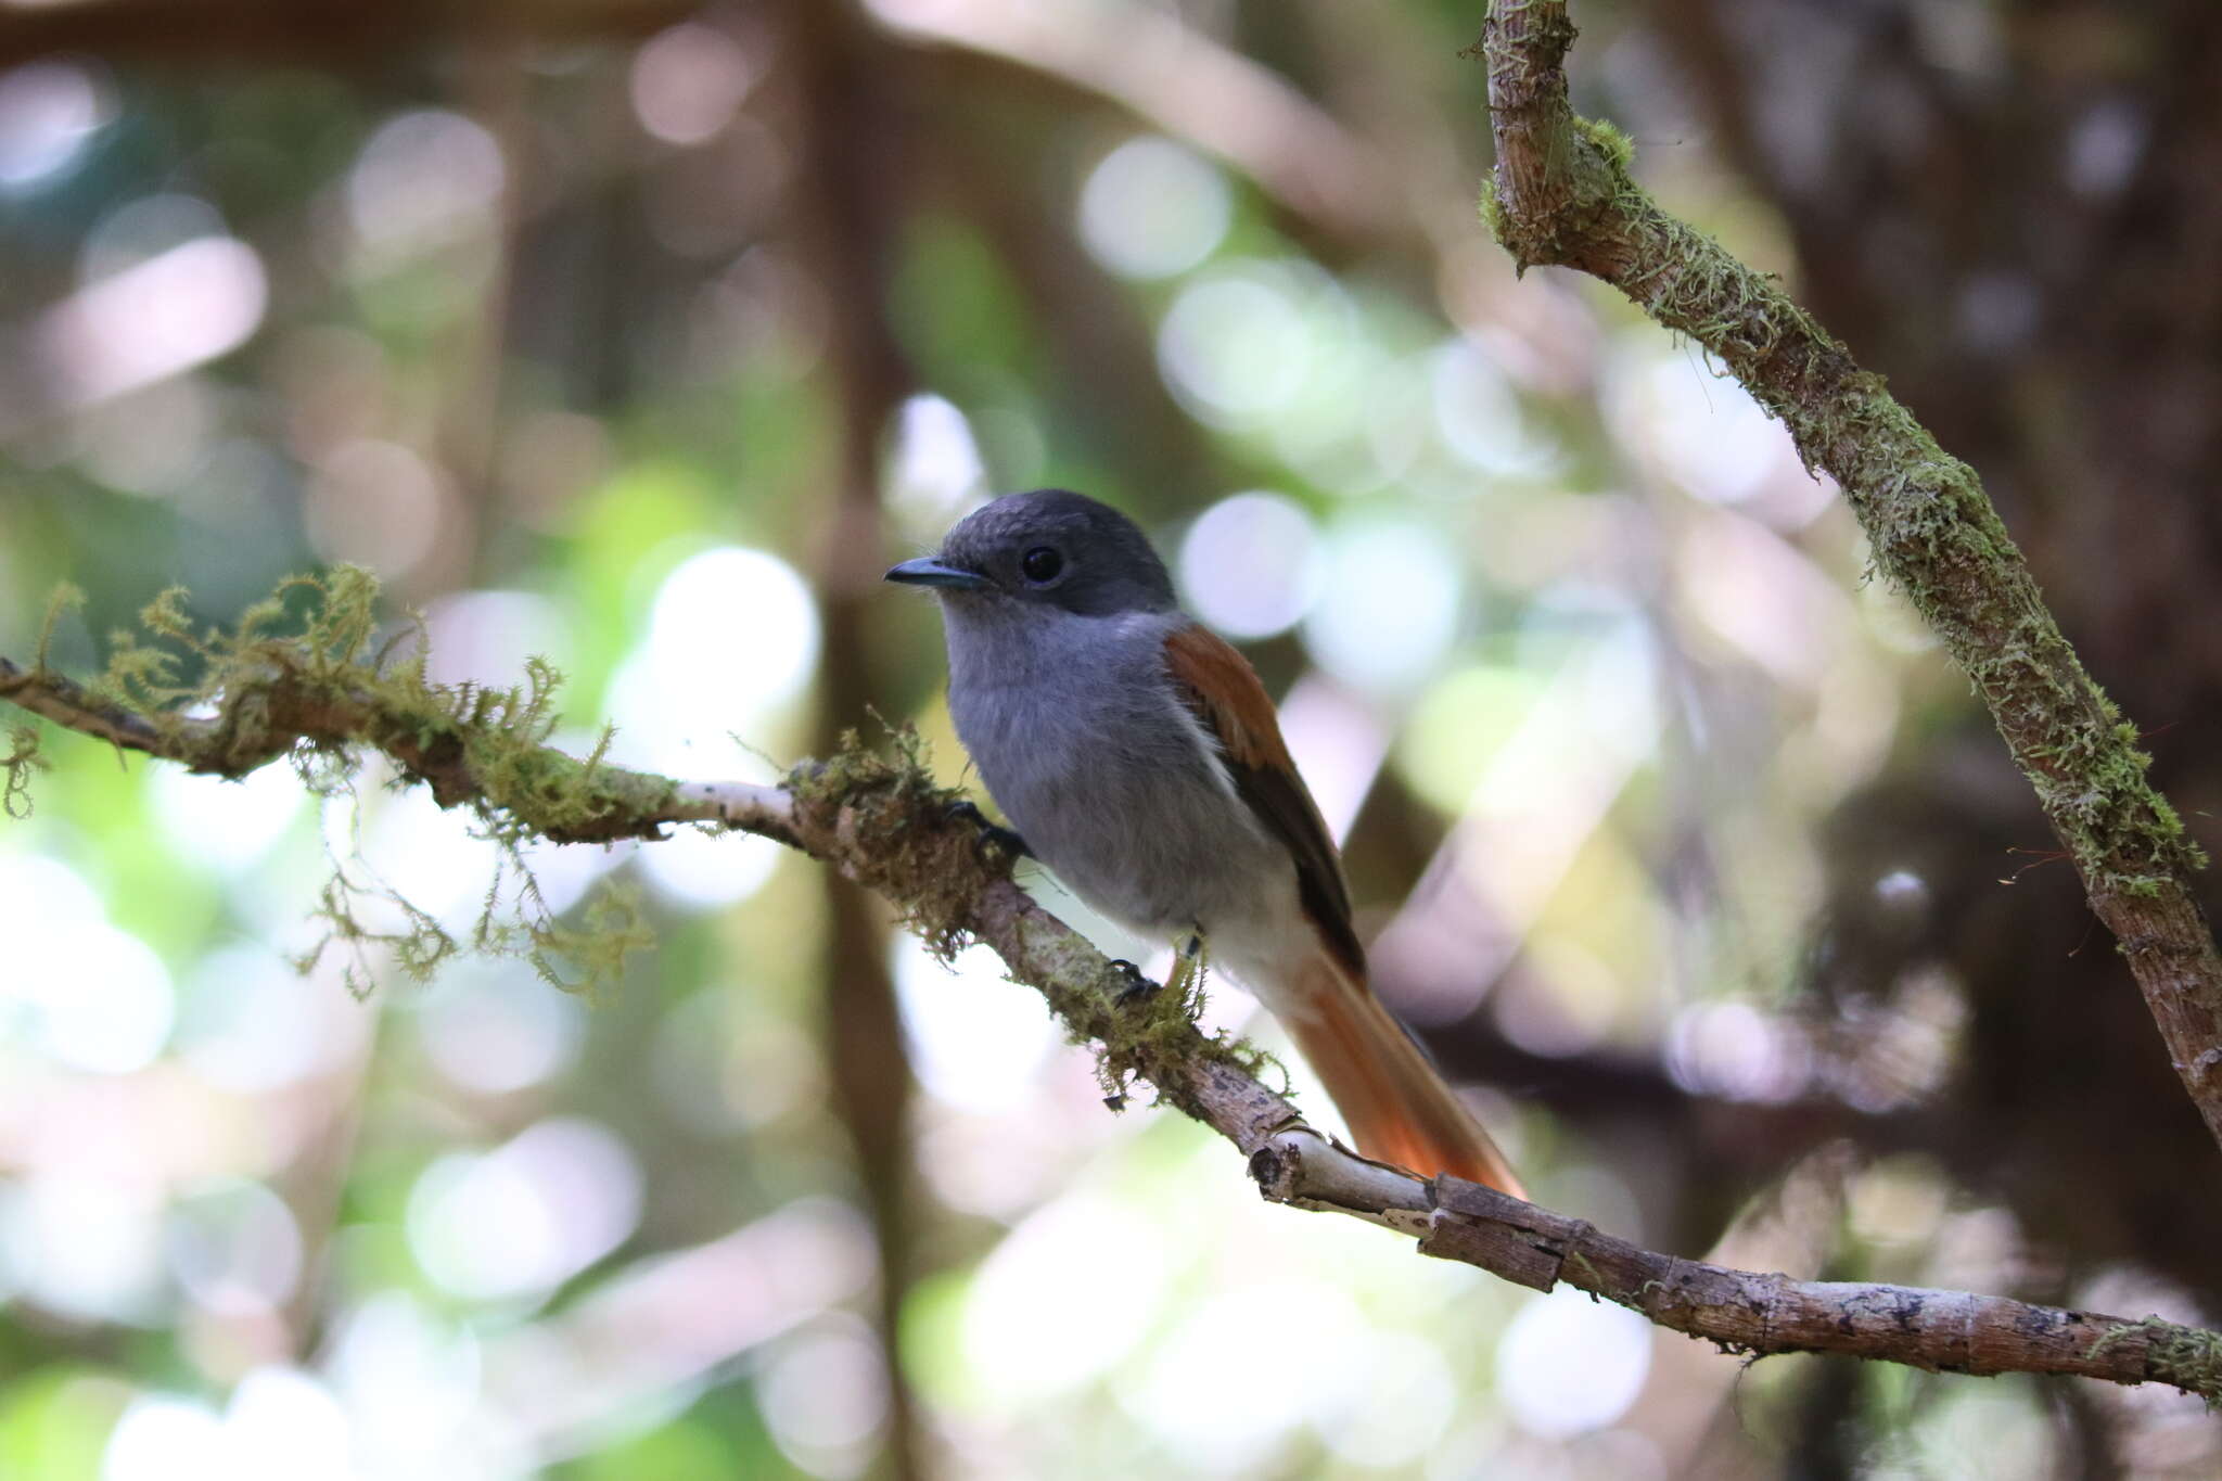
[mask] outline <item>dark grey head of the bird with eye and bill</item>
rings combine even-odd
[[[907,560],[891,582],[933,586],[951,606],[1078,617],[1167,613],[1173,577],[1133,520],[1067,488],[1007,493],[964,515],[940,555]]]

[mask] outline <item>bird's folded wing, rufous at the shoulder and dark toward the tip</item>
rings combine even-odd
[[[1164,666],[1180,697],[1204,722],[1204,731],[1218,737],[1235,795],[1249,804],[1267,833],[1289,846],[1304,915],[1351,977],[1364,981],[1367,953],[1351,928],[1351,890],[1342,881],[1342,857],[1320,817],[1320,804],[1311,799],[1295,762],[1289,759],[1273,697],[1264,693],[1258,671],[1233,644],[1200,626],[1180,628],[1164,639]]]

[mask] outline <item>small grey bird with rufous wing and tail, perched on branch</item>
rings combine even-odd
[[[940,597],[958,739],[1073,895],[1249,988],[1358,1150],[1524,1197],[1367,984],[1342,859],[1264,682],[1180,608],[1133,520],[1067,488],[989,500],[889,582]],[[1175,975],[1178,979],[1178,975]]]

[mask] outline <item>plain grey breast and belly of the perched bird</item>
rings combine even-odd
[[[1209,933],[1247,901],[1275,859],[1164,675],[1187,617],[949,619],[958,737],[1042,864],[1153,935]]]

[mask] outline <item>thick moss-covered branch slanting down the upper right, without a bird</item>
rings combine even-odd
[[[1771,280],[1660,211],[1633,149],[1567,102],[1564,0],[1495,0],[1482,31],[1495,189],[1520,266],[1573,266],[1689,335],[1844,488],[1875,551],[1991,706],[2015,764],[2113,930],[2184,1088],[2222,1141],[2222,955],[2191,888],[2204,864],[2144,779],[2138,728],[2044,608],[1982,482]]]

